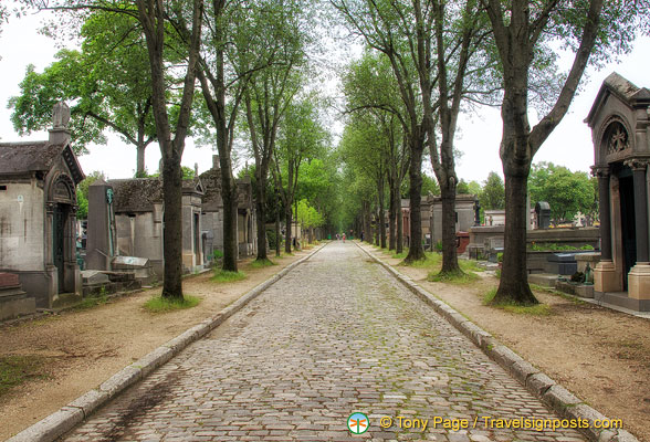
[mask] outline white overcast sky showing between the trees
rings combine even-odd
[[[27,65],[34,64],[38,72],[42,72],[54,61],[56,49],[52,40],[40,35],[36,31],[42,19],[43,14],[35,14],[21,19],[12,18],[9,23],[2,24],[2,33],[0,34],[0,80],[2,85],[0,87],[0,139],[2,141],[21,139],[13,130],[9,119],[11,110],[7,108],[7,103],[9,97],[19,94],[18,84],[24,76]],[[553,161],[572,170],[589,171],[589,167],[594,164],[594,148],[590,130],[583,120],[587,116],[602,81],[611,72],[618,72],[639,87],[650,86],[650,77],[648,76],[648,72],[650,72],[649,46],[650,38],[639,39],[629,55],[608,64],[600,71],[591,69],[587,72],[580,95],[574,99],[568,114],[542,146],[535,156],[535,162]],[[534,123],[534,116],[532,116],[532,123]],[[457,148],[463,152],[457,165],[460,178],[466,181],[482,182],[492,170],[502,175],[499,158],[501,127],[500,110],[495,108],[482,108],[478,114],[461,116],[455,143]],[[46,133],[39,133],[23,139],[45,139],[46,136]],[[196,148],[193,143],[188,140],[182,165],[193,168],[197,162],[202,172],[211,167],[213,154],[210,148]],[[158,145],[149,145],[145,161],[147,169],[155,171],[159,159]],[[84,172],[103,170],[108,178],[133,177],[135,161],[135,148],[122,143],[117,136],[109,136],[108,145],[94,146],[90,154],[80,157]]]

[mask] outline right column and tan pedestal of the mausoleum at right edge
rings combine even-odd
[[[650,305],[650,260],[648,256],[648,183],[646,182],[647,159],[632,159],[626,166],[632,169],[635,183],[635,224],[637,238],[637,263],[628,274],[628,296],[647,299]]]

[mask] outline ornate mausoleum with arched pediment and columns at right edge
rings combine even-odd
[[[612,73],[585,123],[591,128],[600,201],[595,297],[650,311],[650,91]]]

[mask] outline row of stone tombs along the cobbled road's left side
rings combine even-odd
[[[82,241],[76,186],[85,176],[71,148],[69,118],[67,106],[60,103],[48,140],[0,144],[0,320],[78,301],[94,288],[132,288],[161,278],[159,178],[91,185]],[[211,265],[214,251],[223,249],[220,188],[218,156],[211,169],[182,182],[182,264],[188,273]],[[238,181],[238,252],[243,257],[256,253],[250,179]],[[80,262],[82,242],[85,260]]]

